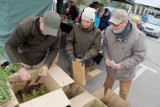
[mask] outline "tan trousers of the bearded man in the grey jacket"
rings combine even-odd
[[[106,80],[104,82],[105,93],[107,92],[108,88],[112,89],[114,82],[115,80],[113,80],[113,78],[107,74]],[[119,96],[124,100],[127,100],[129,89],[132,84],[132,80],[127,80],[127,81],[119,80],[119,84],[120,84]]]

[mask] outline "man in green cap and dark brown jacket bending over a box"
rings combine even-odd
[[[47,11],[42,17],[27,17],[15,27],[5,44],[11,63],[20,64],[22,80],[29,80],[28,69],[41,68],[45,76],[59,51],[60,16]]]

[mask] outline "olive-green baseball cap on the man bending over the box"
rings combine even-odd
[[[54,11],[47,11],[43,14],[44,33],[51,36],[57,36],[60,27],[61,18]]]

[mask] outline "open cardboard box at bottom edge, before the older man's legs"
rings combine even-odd
[[[130,107],[129,103],[119,97],[112,90],[108,89],[106,95],[104,94],[104,87],[92,93],[100,101],[109,107]]]

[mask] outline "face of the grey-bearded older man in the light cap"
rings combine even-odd
[[[120,33],[124,30],[124,28],[127,26],[128,20],[123,21],[119,25],[115,25],[114,23],[111,23],[112,25],[112,30],[114,33]]]

